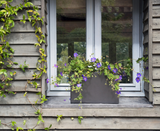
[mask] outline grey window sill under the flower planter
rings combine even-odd
[[[51,108],[79,108],[79,104],[71,104],[70,97],[47,97],[43,109]],[[81,104],[83,109],[91,108],[152,108],[152,104],[144,97],[120,97],[119,104]]]

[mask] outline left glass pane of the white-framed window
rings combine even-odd
[[[86,56],[86,0],[57,0],[57,74],[74,52]]]

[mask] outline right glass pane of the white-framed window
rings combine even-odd
[[[103,60],[116,63],[132,58],[132,8],[132,0],[102,0]],[[122,76],[122,83],[132,82],[125,72]]]

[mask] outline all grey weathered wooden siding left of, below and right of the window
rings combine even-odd
[[[14,5],[22,2],[23,0],[14,0]],[[45,6],[45,0],[32,0],[34,4],[38,5],[42,16],[46,16],[47,10]],[[53,124],[52,129],[67,130],[70,129],[77,130],[159,130],[160,129],[160,1],[159,0],[144,0],[146,2],[144,6],[144,56],[152,56],[152,65],[149,69],[153,70],[151,76],[153,80],[154,93],[153,93],[153,108],[105,108],[105,109],[75,109],[75,108],[54,108],[54,109],[42,109],[43,118],[45,123],[41,123],[36,129],[44,129],[44,127]],[[150,12],[149,7],[152,7],[151,20],[153,25],[149,26]],[[151,9],[152,9],[151,8]],[[8,37],[10,39],[11,46],[15,49],[14,60],[23,64],[26,61],[29,64],[29,70],[26,73],[22,73],[18,66],[15,66],[17,71],[17,76],[15,76],[12,82],[11,90],[16,91],[16,95],[8,95],[6,98],[0,98],[0,120],[4,123],[9,123],[12,120],[17,122],[18,126],[23,128],[32,128],[37,123],[35,110],[27,101],[27,98],[23,96],[25,90],[25,83],[27,79],[32,78],[33,70],[35,69],[35,63],[38,59],[39,53],[38,49],[34,47],[34,43],[37,41],[34,28],[27,22],[23,25],[19,22],[21,15],[16,18],[16,27],[12,30],[12,34]],[[47,21],[45,18],[45,25],[43,26],[43,31],[47,36],[46,26]],[[152,29],[153,28],[153,29]],[[150,31],[152,34],[149,34]],[[149,48],[150,36],[153,36],[151,45]],[[43,48],[47,46],[44,45]],[[152,49],[152,50],[151,50]],[[151,60],[151,59],[150,59]],[[43,65],[42,65],[43,66]],[[145,70],[145,75],[150,78],[149,71]],[[45,94],[45,79],[37,80],[40,84],[38,89],[27,87],[28,96],[31,102],[38,99],[36,92],[42,91]],[[149,90],[151,88],[149,85],[145,85],[146,95],[149,96]],[[148,94],[147,94],[148,93]],[[149,98],[149,97],[148,97]],[[41,108],[38,104],[37,108]],[[60,123],[56,122],[57,115],[63,115],[63,119]],[[77,117],[83,116],[82,124],[78,123]],[[70,118],[74,117],[72,121]],[[23,125],[23,120],[27,121],[27,126]],[[0,130],[9,129],[5,126],[0,126]]]

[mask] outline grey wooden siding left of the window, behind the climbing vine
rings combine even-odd
[[[17,5],[23,2],[23,0],[14,0],[12,5]],[[42,14],[41,0],[31,0],[31,2],[39,7],[39,13]],[[11,47],[15,50],[13,61],[18,62],[19,65],[24,65],[24,62],[26,61],[26,64],[29,65],[29,69],[26,69],[26,72],[23,73],[22,70],[19,69],[19,65],[14,65],[17,74],[11,82],[12,86],[9,90],[15,91],[16,95],[10,94],[5,98],[0,98],[0,120],[2,123],[16,121],[18,122],[17,126],[23,126],[23,120],[27,120],[27,123],[29,124],[28,127],[32,128],[37,123],[37,118],[34,114],[36,110],[29,103],[27,98],[24,97],[24,93],[27,79],[32,79],[33,72],[36,69],[36,62],[38,60],[39,53],[38,48],[34,47],[34,44],[37,42],[37,38],[34,33],[35,29],[29,22],[26,22],[26,24],[20,22],[24,12],[25,10],[18,13],[18,16],[15,18],[15,27],[11,30],[12,33],[7,36],[7,39],[9,40]],[[2,23],[0,23],[0,25],[1,24]],[[36,81],[39,83],[37,89],[30,85],[26,88],[28,91],[28,98],[32,103],[35,103],[37,99],[40,99],[36,93],[42,91],[41,79]],[[36,107],[40,109],[40,100]],[[41,129],[44,129],[43,124],[40,126]],[[38,126],[38,128],[40,126]],[[9,128],[0,126],[0,130],[4,129]]]

